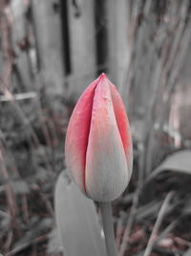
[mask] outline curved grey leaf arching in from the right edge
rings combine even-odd
[[[152,174],[146,182],[163,171],[172,171],[180,174],[191,175],[191,151],[178,151],[169,155]]]

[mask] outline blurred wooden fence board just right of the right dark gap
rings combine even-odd
[[[126,0],[108,1],[109,75],[117,86],[121,86],[130,60],[128,8]]]

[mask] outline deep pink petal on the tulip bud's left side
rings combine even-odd
[[[87,87],[75,105],[65,142],[65,157],[69,174],[83,193],[85,193],[86,151],[98,81],[99,78]]]

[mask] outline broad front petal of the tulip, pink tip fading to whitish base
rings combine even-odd
[[[86,159],[87,195],[97,201],[116,199],[128,184],[128,171],[110,86],[104,74],[95,90]]]

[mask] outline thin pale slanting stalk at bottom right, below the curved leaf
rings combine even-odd
[[[152,252],[153,245],[155,243],[156,234],[159,230],[159,226],[160,226],[161,222],[163,221],[163,217],[164,217],[164,215],[165,215],[165,213],[168,209],[169,201],[171,200],[172,197],[173,197],[173,192],[171,191],[171,192],[168,193],[168,195],[166,196],[166,198],[164,199],[164,201],[161,205],[161,208],[159,210],[158,219],[155,222],[155,225],[153,227],[149,242],[147,244],[147,247],[146,247],[146,250],[145,250],[143,256],[149,256]]]

